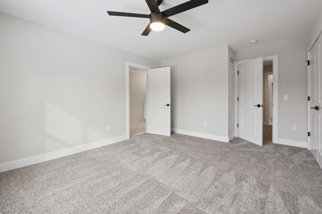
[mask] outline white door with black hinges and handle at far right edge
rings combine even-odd
[[[317,40],[312,50],[309,52],[309,150],[315,160],[322,168],[322,143],[321,143],[321,100],[322,100],[322,48],[321,40]]]

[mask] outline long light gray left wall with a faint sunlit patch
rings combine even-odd
[[[5,14],[0,47],[0,163],[126,135],[125,62],[161,66]]]

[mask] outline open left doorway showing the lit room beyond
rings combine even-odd
[[[146,133],[146,70],[129,69],[130,137]]]

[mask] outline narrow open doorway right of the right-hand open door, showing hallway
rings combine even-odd
[[[263,62],[263,145],[272,143],[273,60]]]

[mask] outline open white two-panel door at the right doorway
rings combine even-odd
[[[263,57],[238,65],[238,137],[263,146]]]

